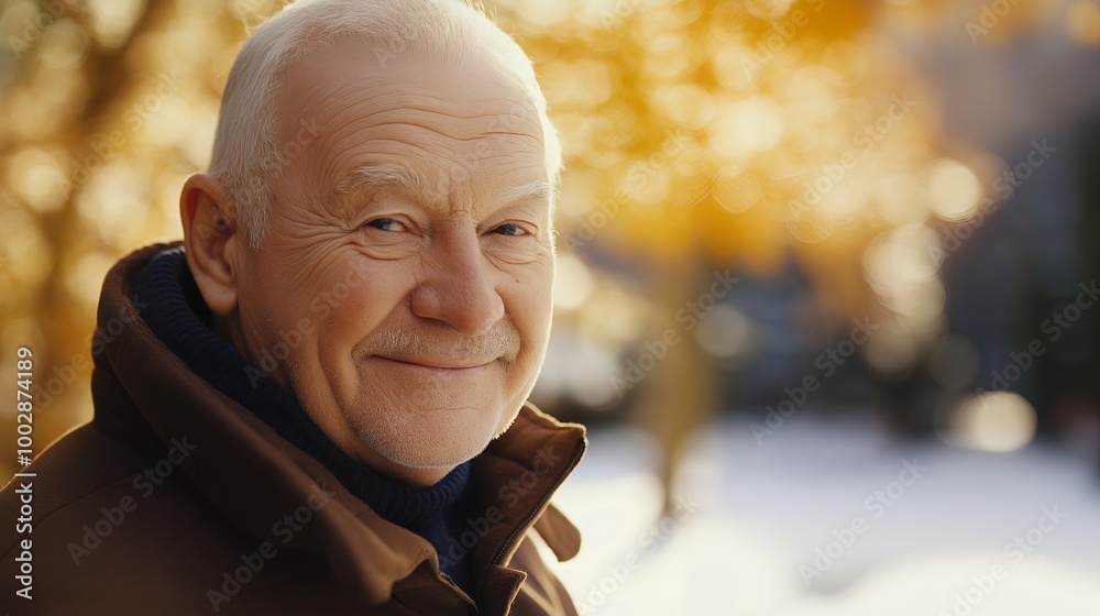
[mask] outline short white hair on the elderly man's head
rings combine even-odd
[[[405,55],[501,63],[531,97],[556,190],[562,154],[547,102],[527,54],[469,0],[298,0],[261,25],[244,43],[226,84],[209,175],[224,188],[252,250],[258,250],[274,198],[272,185],[288,161],[279,147],[275,105],[280,78],[308,51],[334,36],[372,41],[374,57]],[[553,195],[551,195],[551,199]]]

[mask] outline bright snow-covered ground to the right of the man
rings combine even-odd
[[[1085,457],[899,442],[809,413],[758,444],[727,419],[684,461],[680,521],[659,526],[653,442],[591,441],[556,499],[584,535],[558,568],[582,615],[1100,615]]]

